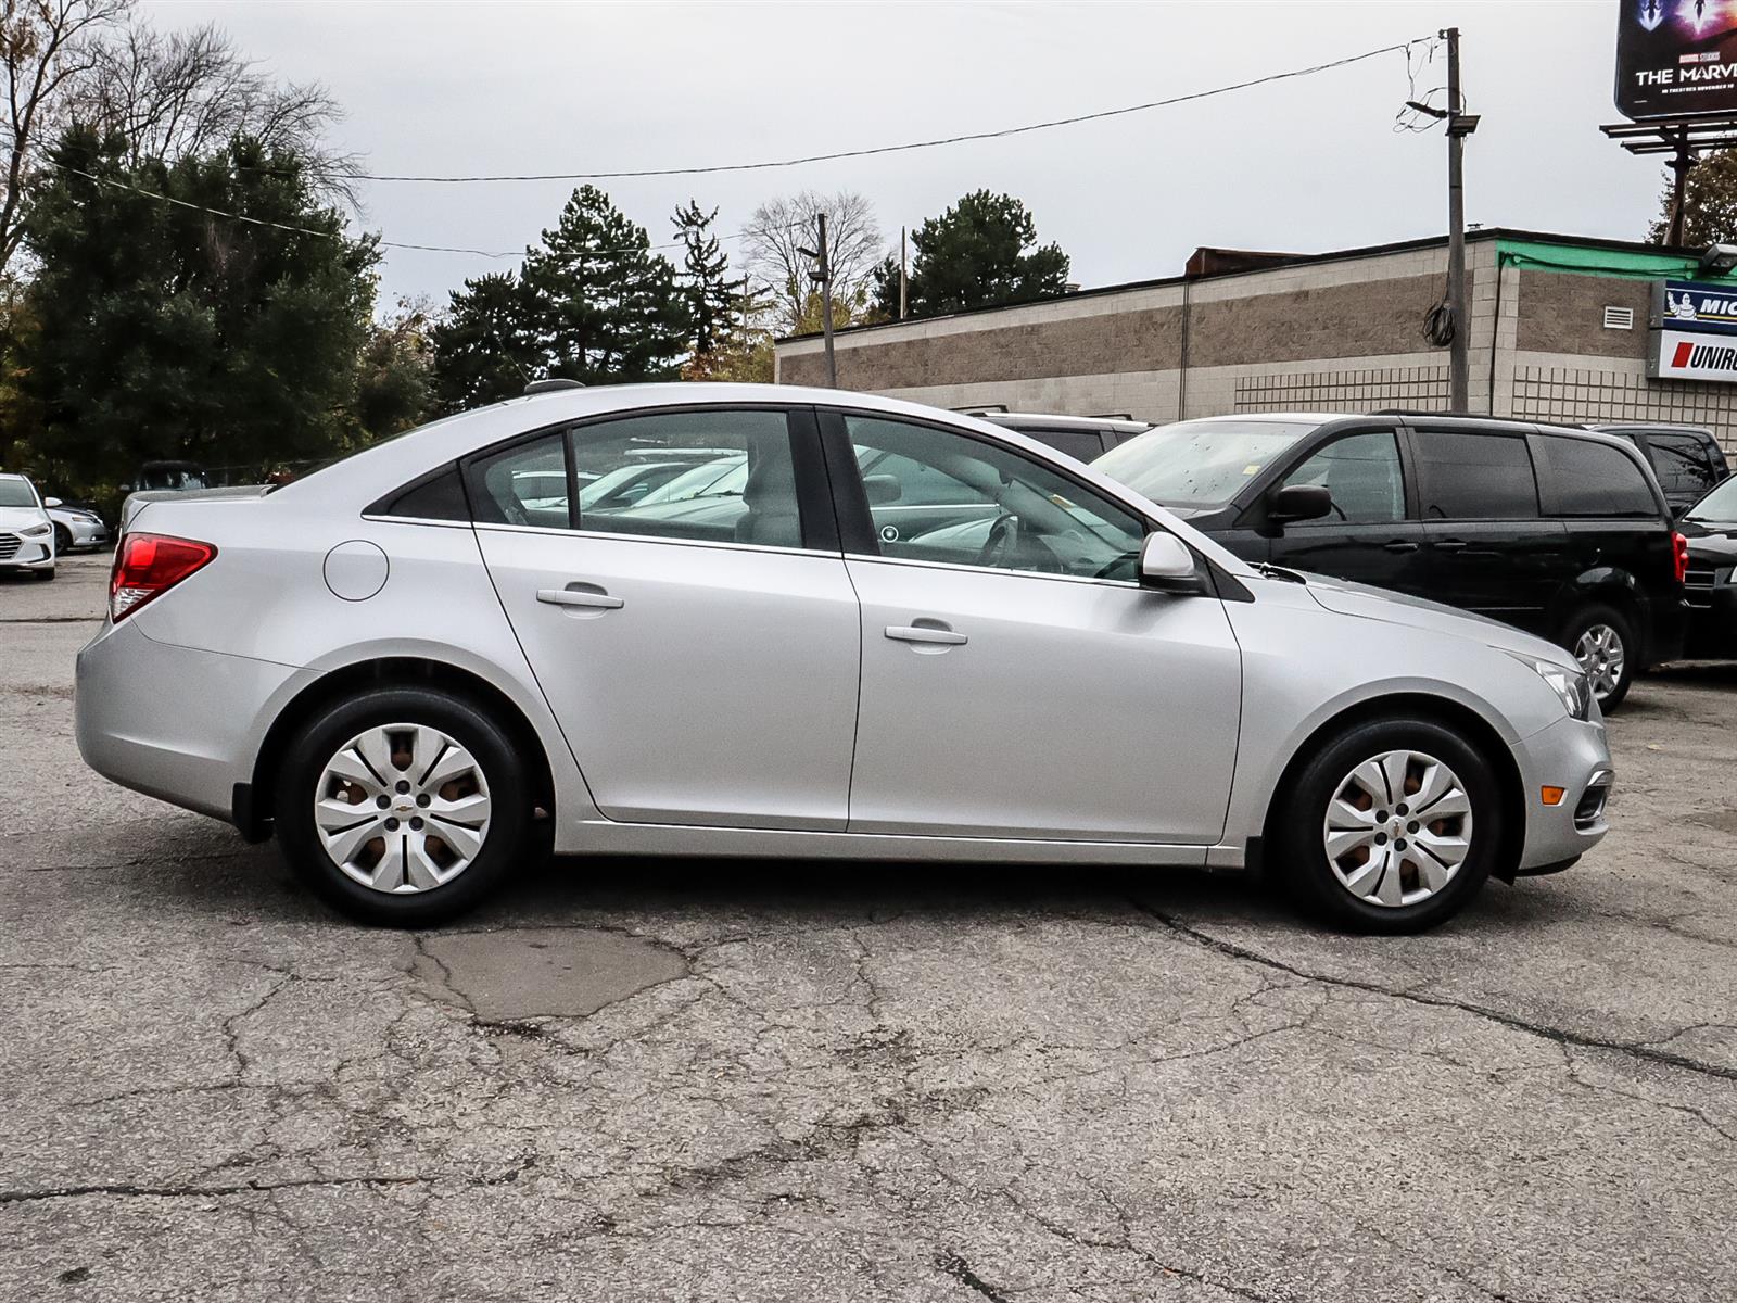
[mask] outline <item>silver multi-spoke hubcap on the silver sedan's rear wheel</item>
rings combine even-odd
[[[327,761],[314,827],[347,877],[405,895],[462,874],[488,839],[488,778],[453,738],[427,724],[358,733]]]

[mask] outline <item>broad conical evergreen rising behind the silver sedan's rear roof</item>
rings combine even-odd
[[[688,346],[676,269],[596,186],[575,189],[542,247],[526,252],[523,283],[547,375],[585,384],[676,375]]]

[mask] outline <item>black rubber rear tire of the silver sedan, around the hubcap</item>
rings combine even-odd
[[[380,724],[427,724],[466,747],[492,797],[483,848],[452,881],[410,895],[363,886],[327,855],[313,803],[337,751]],[[427,928],[464,914],[533,858],[535,789],[507,731],[474,702],[433,688],[373,688],[321,711],[290,738],[278,766],[273,815],[283,855],[321,900],[361,923]],[[412,811],[413,813],[413,811]]]

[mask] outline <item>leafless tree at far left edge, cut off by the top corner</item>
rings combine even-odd
[[[132,0],[3,0],[0,66],[5,71],[5,195],[0,196],[0,274],[23,238],[31,156],[66,125],[71,87],[99,61],[101,36]]]

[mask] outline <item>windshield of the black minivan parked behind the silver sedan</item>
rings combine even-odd
[[[1119,443],[1093,469],[1159,504],[1216,507],[1311,429],[1299,420],[1179,420]]]

